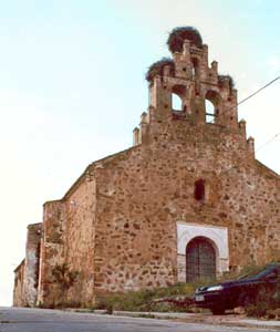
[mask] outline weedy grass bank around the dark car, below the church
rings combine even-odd
[[[94,309],[123,311],[158,311],[158,312],[195,312],[191,305],[191,298],[195,290],[201,286],[222,282],[230,279],[245,277],[248,273],[257,272],[262,267],[256,264],[247,266],[240,271],[224,273],[215,279],[198,280],[194,283],[177,283],[166,288],[153,290],[129,291],[126,293],[111,293],[97,300]],[[268,292],[262,289],[253,304],[246,308],[246,313],[252,317],[267,315],[269,311],[280,308],[280,289]],[[272,313],[271,313],[272,314]]]

